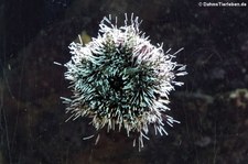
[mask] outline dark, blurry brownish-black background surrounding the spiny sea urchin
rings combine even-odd
[[[248,2],[180,0],[0,1],[0,164],[247,164]],[[238,6],[240,4],[240,6]],[[106,15],[143,20],[151,43],[176,52],[188,75],[170,94],[181,123],[144,139],[66,120],[68,45],[97,37]]]

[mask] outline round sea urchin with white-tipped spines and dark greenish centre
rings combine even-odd
[[[170,108],[169,94],[176,76],[186,75],[185,65],[174,62],[175,54],[164,52],[162,45],[152,45],[139,30],[138,17],[117,26],[117,18],[104,18],[99,33],[91,42],[72,43],[72,59],[64,66],[71,81],[71,98],[63,98],[71,118],[88,117],[96,130],[121,130],[138,133],[139,149],[143,138],[149,139],[149,127],[155,134],[168,134],[164,122],[174,120],[165,113]]]

